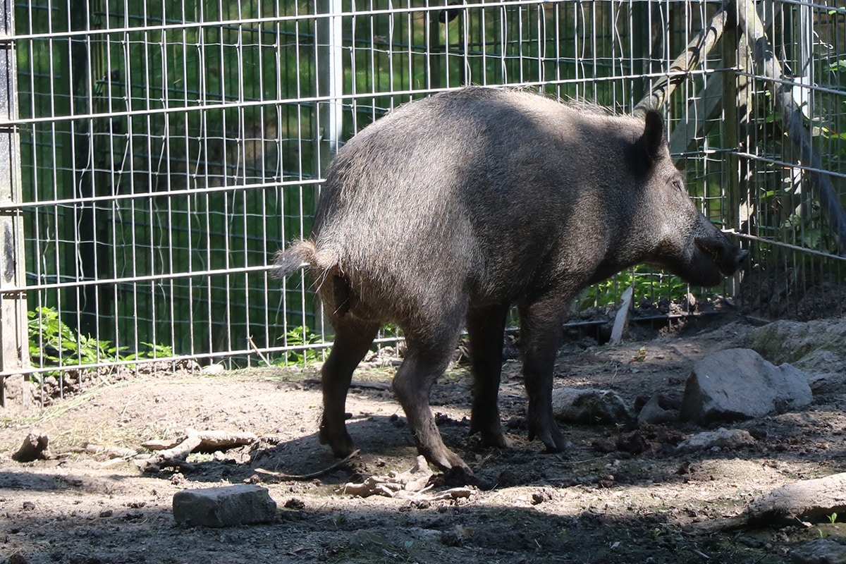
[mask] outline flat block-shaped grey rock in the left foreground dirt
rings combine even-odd
[[[191,527],[268,523],[276,509],[266,488],[252,484],[182,490],[173,495],[173,518]]]

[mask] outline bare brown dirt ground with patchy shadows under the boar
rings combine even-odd
[[[696,359],[750,344],[744,320],[640,330],[618,346],[574,336],[555,386],[611,389],[630,404],[655,392],[681,397]],[[371,364],[391,364],[384,357]],[[336,463],[316,437],[317,369],[221,375],[157,373],[103,385],[39,413],[0,419],[0,562],[784,562],[799,545],[843,538],[840,523],[725,523],[748,503],[795,479],[844,468],[846,394],[808,408],[726,425],[755,445],[678,455],[702,429],[668,424],[563,426],[572,450],[543,452],[527,440],[518,361],[505,364],[500,405],[514,448],[468,436],[470,381],[460,364],[433,394],[444,440],[478,480],[469,497],[438,501],[347,496],[338,489],[415,462],[404,413],[385,389],[349,394],[349,432],[360,455],[318,479],[264,482],[279,511],[272,523],[188,528],[174,523],[173,494],[241,484],[255,468],[308,474]],[[360,368],[356,381],[389,382],[393,368]],[[186,428],[250,431],[261,441],[192,454],[192,468],[141,474],[140,443]],[[15,463],[31,430],[49,435],[52,458]],[[637,445],[637,446],[632,446]],[[120,449],[129,449],[121,451]],[[610,452],[609,452],[610,451]],[[123,454],[124,457],[116,457]]]

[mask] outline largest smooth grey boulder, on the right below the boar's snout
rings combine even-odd
[[[678,416],[700,424],[736,421],[783,413],[812,399],[801,370],[775,366],[748,348],[729,348],[694,364]]]

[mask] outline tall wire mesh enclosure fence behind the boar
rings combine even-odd
[[[754,257],[719,293],[765,318],[843,315],[834,0],[19,0],[0,16],[0,379],[319,355],[308,282],[269,277],[273,252],[308,234],[344,140],[470,84],[623,113],[676,86],[661,107],[691,195]],[[692,307],[642,267],[574,307],[631,284]]]

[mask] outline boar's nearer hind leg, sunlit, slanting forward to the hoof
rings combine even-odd
[[[456,327],[454,331],[443,331],[441,336],[436,337],[437,342],[415,337],[409,331],[405,333],[405,359],[393,378],[393,392],[409,420],[409,429],[415,435],[417,450],[438,468],[460,468],[472,474],[461,457],[443,444],[429,408],[431,386],[447,369],[459,337],[459,329]]]

